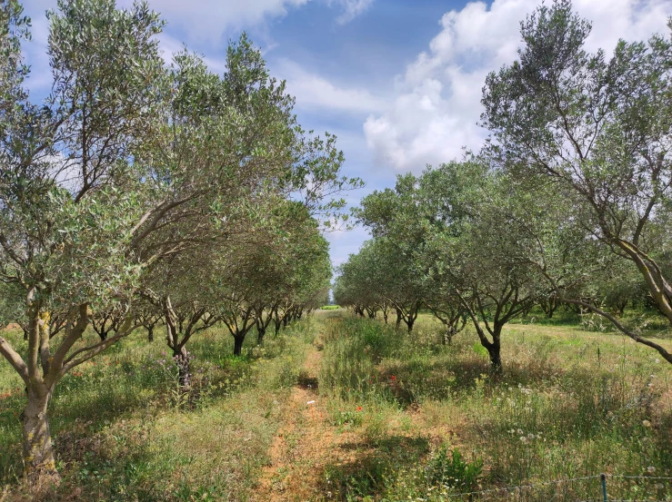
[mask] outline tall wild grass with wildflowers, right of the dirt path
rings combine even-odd
[[[341,468],[339,497],[443,500],[458,487],[436,486],[427,469],[437,456],[449,458],[446,447],[458,448],[467,465],[483,462],[476,488],[603,472],[672,477],[667,365],[613,335],[584,337],[586,333],[552,330],[548,335],[543,334],[547,328],[515,328],[503,341],[504,375],[493,376],[486,354],[468,330],[448,347],[436,343],[440,327],[426,317],[411,334],[376,321],[331,320],[321,379],[323,390],[338,403],[334,421],[339,422],[342,409],[352,413],[358,406],[362,411],[356,420],[340,422],[365,438],[385,444],[405,435],[425,438],[427,444],[416,452],[416,468],[396,465],[395,458],[387,458],[382,468],[376,464],[369,476],[376,484],[366,489],[360,477],[366,477],[368,464]],[[400,413],[413,418],[406,431],[390,425],[400,423]],[[368,428],[377,428],[376,434]],[[337,477],[333,471],[332,484]],[[599,482],[575,485],[564,487],[562,497],[567,498],[554,496],[589,496]],[[672,497],[667,485],[661,492],[660,483],[640,480],[614,489],[621,498]],[[550,496],[547,488],[540,488],[526,497]]]

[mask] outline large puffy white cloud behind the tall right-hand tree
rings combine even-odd
[[[519,23],[538,0],[472,2],[441,19],[441,32],[426,52],[396,78],[396,96],[385,113],[364,124],[376,161],[398,171],[446,162],[462,148],[478,149],[486,132],[476,122],[486,74],[517,57]],[[577,12],[593,20],[587,47],[613,50],[619,37],[644,40],[667,33],[668,0],[577,0]]]

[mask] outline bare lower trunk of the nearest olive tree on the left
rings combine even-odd
[[[41,389],[41,384],[29,384],[27,403],[21,413],[24,438],[24,468],[31,479],[44,475],[57,476],[54,448],[49,431],[46,409],[51,398],[51,390]]]

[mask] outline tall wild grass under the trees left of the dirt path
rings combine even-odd
[[[225,330],[204,332],[190,342],[188,395],[165,344],[144,332],[78,367],[51,407],[63,481],[39,495],[20,484],[24,396],[0,364],[0,500],[249,499],[316,328],[296,322],[259,348],[250,336],[238,358]]]

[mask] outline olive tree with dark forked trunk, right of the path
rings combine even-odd
[[[504,326],[546,294],[537,269],[520,251],[520,215],[529,208],[507,175],[482,159],[443,164],[424,176],[431,180],[430,206],[441,222],[427,245],[430,276],[473,321],[499,372]]]

